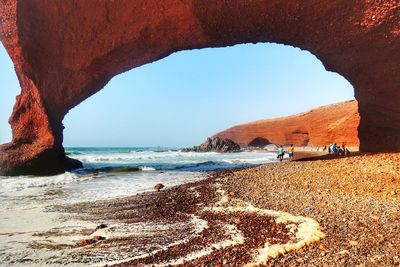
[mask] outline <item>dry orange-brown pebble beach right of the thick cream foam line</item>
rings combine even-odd
[[[400,154],[268,164],[223,181],[255,206],[322,226],[324,239],[268,266],[400,265]]]

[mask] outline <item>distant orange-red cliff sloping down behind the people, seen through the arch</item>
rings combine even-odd
[[[277,145],[325,146],[345,142],[348,146],[358,146],[359,122],[357,102],[349,101],[294,116],[237,125],[216,135],[241,146],[247,146],[257,137]]]

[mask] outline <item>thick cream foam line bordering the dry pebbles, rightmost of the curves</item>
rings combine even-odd
[[[256,208],[250,203],[230,198],[224,190],[217,190],[217,192],[222,195],[221,200],[218,201],[215,206],[209,208],[210,211],[228,213],[250,212],[272,216],[276,218],[277,223],[288,224],[287,227],[295,234],[295,242],[290,240],[286,244],[270,245],[269,242],[266,241],[264,247],[258,250],[258,255],[255,257],[254,262],[246,264],[246,267],[266,264],[268,260],[272,258],[276,258],[290,251],[298,250],[325,237],[325,234],[320,230],[318,222],[312,218],[295,216],[282,211]]]

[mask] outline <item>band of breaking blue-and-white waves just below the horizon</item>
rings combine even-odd
[[[182,152],[180,150],[82,150],[74,157],[83,162],[90,172],[133,172],[154,170],[212,171],[226,168],[241,168],[276,161],[275,153],[217,153]],[[124,169],[125,166],[134,166]],[[137,166],[141,166],[142,169]],[[105,168],[104,168],[105,167]],[[118,167],[119,169],[115,169]],[[100,168],[100,169],[99,169]],[[103,168],[103,169],[102,169]],[[138,169],[136,169],[138,168]],[[148,169],[152,168],[152,169]]]

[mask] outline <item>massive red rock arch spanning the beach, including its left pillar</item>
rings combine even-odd
[[[398,0],[0,0],[21,85],[0,172],[66,167],[65,114],[113,76],[179,50],[255,42],[306,49],[347,78],[361,150],[400,151],[399,10]]]

